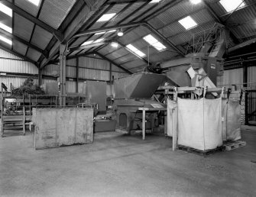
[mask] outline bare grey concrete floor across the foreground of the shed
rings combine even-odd
[[[34,150],[0,138],[0,196],[256,196],[256,131],[246,147],[206,158],[171,151],[162,134],[98,133],[89,145]]]

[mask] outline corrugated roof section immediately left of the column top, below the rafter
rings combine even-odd
[[[31,43],[44,50],[52,37],[53,34],[36,25]]]

